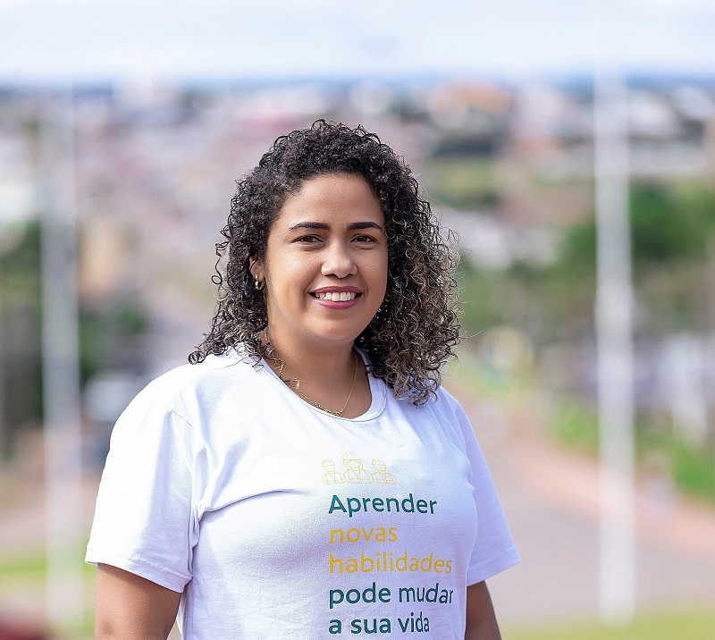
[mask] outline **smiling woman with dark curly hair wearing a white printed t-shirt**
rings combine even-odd
[[[210,333],[118,421],[87,559],[97,637],[499,638],[517,562],[464,412],[454,260],[362,128],[276,140],[238,184]]]

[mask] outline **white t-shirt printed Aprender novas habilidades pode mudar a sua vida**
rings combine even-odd
[[[269,366],[211,356],[118,420],[87,561],[182,592],[187,640],[463,640],[467,585],[518,561],[456,400],[369,377],[332,417]]]

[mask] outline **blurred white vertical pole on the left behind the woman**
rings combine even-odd
[[[68,627],[83,614],[72,93],[45,97],[39,107],[46,605],[50,625]]]

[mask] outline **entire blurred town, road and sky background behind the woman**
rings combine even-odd
[[[0,2],[0,640],[92,635],[114,420],[206,331],[235,181],[316,118],[458,234],[504,637],[715,637],[714,42],[710,0]]]

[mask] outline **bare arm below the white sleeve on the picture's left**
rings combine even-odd
[[[166,640],[181,594],[129,571],[97,566],[97,640]]]

